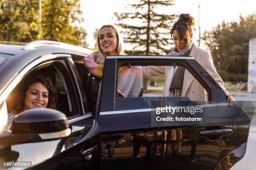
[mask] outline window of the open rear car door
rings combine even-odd
[[[120,71],[118,74],[117,90],[120,90],[125,97],[115,97],[115,110],[136,110],[136,109],[146,109],[151,108],[152,102],[170,102],[175,103],[176,101],[193,101],[195,100],[195,94],[197,91],[205,91],[205,88],[189,73],[189,76],[184,76],[185,82],[192,83],[193,85],[183,85],[179,86],[177,82],[183,83],[181,75],[175,75],[178,67],[179,70],[185,68],[182,66],[150,66],[147,67],[144,75],[148,76],[147,79],[140,80],[136,74],[131,74],[131,68],[126,67],[124,70]],[[146,67],[144,67],[145,69]],[[164,72],[172,72],[166,80]],[[126,73],[125,73],[126,72]],[[183,71],[184,74],[188,74],[187,71]],[[145,82],[146,81],[146,82]],[[171,83],[172,82],[172,83]],[[143,83],[147,84],[147,88],[141,90]],[[166,83],[166,85],[165,85]],[[172,85],[171,85],[172,84]],[[180,88],[178,88],[180,87]],[[186,89],[183,89],[186,88]],[[205,91],[206,92],[206,91]],[[172,94],[171,94],[172,93]],[[118,96],[118,95],[117,95]],[[201,100],[207,100],[207,95],[201,94]]]

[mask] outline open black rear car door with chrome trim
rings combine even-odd
[[[193,102],[187,97],[116,97],[118,68],[134,65],[185,67],[207,91],[208,102]],[[98,112],[102,169],[230,168],[245,154],[250,118],[239,103],[230,107],[226,99],[222,88],[193,57],[107,57]],[[203,114],[192,117],[203,120],[156,123],[154,103],[201,107]]]

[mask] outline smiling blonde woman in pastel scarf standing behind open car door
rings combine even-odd
[[[103,74],[103,64],[108,55],[123,55],[122,39],[113,25],[103,25],[97,34],[97,51],[84,57],[84,75],[81,75],[87,94],[89,111],[94,112]],[[120,67],[118,96],[135,97],[141,93],[141,67]]]

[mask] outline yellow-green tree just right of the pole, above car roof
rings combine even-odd
[[[79,0],[44,0],[42,4],[42,29],[46,40],[87,46],[86,31],[75,23],[83,21]]]

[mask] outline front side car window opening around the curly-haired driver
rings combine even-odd
[[[31,75],[39,75],[41,77],[47,78],[51,80],[54,88],[57,92],[57,103],[56,103],[56,110],[59,110],[63,112],[67,117],[73,117],[75,115],[78,115],[79,112],[74,108],[76,100],[74,96],[74,85],[72,85],[72,80],[70,77],[70,74],[66,67],[64,66],[64,61],[54,61],[51,63],[43,64],[38,67],[33,68],[29,72],[28,75],[23,77],[20,80],[20,83],[23,79],[26,79],[26,77]],[[15,108],[13,102],[15,100],[15,97],[18,95],[18,87],[20,83],[13,89],[13,91],[8,95],[7,97],[7,108],[8,113],[13,112],[13,108]]]

